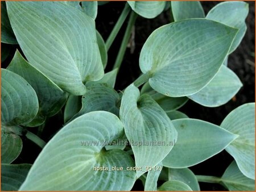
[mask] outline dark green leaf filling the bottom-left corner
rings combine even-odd
[[[1,164],[1,190],[18,191],[27,177],[30,164],[8,165]]]

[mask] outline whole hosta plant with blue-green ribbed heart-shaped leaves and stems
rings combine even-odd
[[[128,191],[140,183],[145,191],[199,191],[199,182],[215,182],[253,191],[255,103],[233,108],[221,124],[178,111],[189,100],[225,105],[242,87],[227,64],[245,35],[248,4],[220,2],[205,14],[197,1],[120,2],[105,41],[95,20],[105,3],[1,2],[2,61],[11,57],[1,69],[2,190]],[[163,11],[170,23],[143,44],[141,76],[115,90],[135,20]],[[42,148],[32,164],[19,159],[27,140]],[[221,177],[189,169],[224,150],[233,160]]]

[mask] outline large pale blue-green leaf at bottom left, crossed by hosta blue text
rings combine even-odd
[[[134,167],[133,159],[119,149],[105,151],[102,143],[122,135],[121,121],[110,112],[80,116],[47,143],[19,190],[131,190],[135,172],[127,168]]]

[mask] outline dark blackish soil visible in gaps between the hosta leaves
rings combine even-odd
[[[217,3],[219,2],[201,2],[205,10],[205,15]],[[243,87],[237,93],[236,97],[220,107],[203,107],[189,100],[183,107],[179,109],[179,111],[185,112],[185,114],[187,114],[190,118],[206,120],[208,122],[220,125],[225,116],[228,115],[229,112],[232,111],[234,108],[242,105],[243,103],[255,102],[255,3],[248,3],[250,11],[246,19],[247,31],[245,37],[243,37],[240,47],[238,47],[236,51],[234,51],[232,55],[229,56],[228,61],[229,68],[232,69],[240,78],[243,83]],[[109,2],[105,5],[98,6],[96,28],[100,32],[104,40],[108,38],[124,6],[125,2]],[[117,76],[117,81],[115,85],[116,90],[125,89],[125,87],[130,85],[131,82],[139,77],[139,75],[141,74],[141,70],[139,69],[139,53],[141,52],[141,48],[144,42],[146,41],[147,37],[152,33],[152,31],[168,23],[170,23],[170,9],[164,11],[162,14],[154,19],[145,19],[141,16],[138,16],[134,27],[134,51],[131,51],[130,48],[127,48],[126,50],[125,57],[123,59],[121,68]],[[117,38],[114,40],[112,47],[110,47],[109,49],[108,65],[105,72],[109,72],[110,70],[112,70],[126,26],[127,20],[125,24],[123,24],[123,27],[121,28],[121,31],[119,32]],[[3,46],[9,45],[5,44]],[[18,45],[10,46],[10,52],[13,55],[16,48],[20,50]],[[6,68],[6,66],[13,58],[13,55],[10,55],[9,58],[6,59],[6,61],[2,62],[2,68]],[[48,120],[46,130],[44,130],[45,132],[42,135],[42,139],[48,141],[49,137],[56,133],[56,131],[59,130],[59,128],[62,127],[63,124],[63,114],[60,112],[59,114],[53,116],[51,119]],[[31,128],[30,131],[36,133],[36,130],[34,128]],[[36,157],[39,155],[40,151],[41,149],[37,145],[32,143],[30,140],[23,138],[22,153],[13,163],[32,164],[35,161]],[[218,155],[200,163],[199,165],[192,166],[190,169],[195,174],[221,177],[225,169],[232,161],[233,157],[230,156],[227,152],[223,151]],[[161,185],[162,183],[159,182],[158,184]],[[214,183],[200,182],[200,188],[203,191],[226,190],[221,185]],[[133,190],[144,190],[141,181],[138,180],[135,183]]]

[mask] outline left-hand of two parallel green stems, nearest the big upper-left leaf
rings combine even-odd
[[[127,15],[129,14],[131,8],[128,3],[125,4],[125,8],[123,9],[121,15],[119,16],[117,23],[115,23],[115,26],[110,33],[108,39],[106,40],[106,49],[109,51],[109,48],[111,47],[115,37],[117,36],[120,28],[122,27],[123,23],[125,22],[125,19],[127,18]]]

